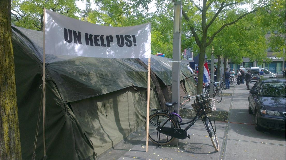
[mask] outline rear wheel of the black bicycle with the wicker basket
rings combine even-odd
[[[159,145],[166,145],[174,140],[174,137],[159,133],[157,130],[157,127],[162,126],[169,118],[170,116],[165,113],[154,113],[149,116],[149,139],[152,142]],[[176,123],[171,118],[164,126],[176,128]]]

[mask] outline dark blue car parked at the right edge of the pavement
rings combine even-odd
[[[285,130],[286,80],[259,79],[250,89],[249,114],[254,114],[255,129]]]

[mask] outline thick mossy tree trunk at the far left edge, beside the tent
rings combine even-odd
[[[22,159],[11,33],[11,0],[0,0],[0,159],[3,160]]]

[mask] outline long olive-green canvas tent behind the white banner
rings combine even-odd
[[[22,158],[31,159],[35,147],[35,159],[43,159],[43,32],[12,26],[12,42]],[[172,90],[172,59],[151,61],[150,111],[164,108]],[[96,159],[145,125],[146,67],[147,59],[46,55],[47,158]],[[180,79],[180,96],[194,95],[182,63]]]

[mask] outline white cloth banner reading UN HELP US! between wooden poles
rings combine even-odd
[[[110,27],[45,10],[45,54],[149,58],[151,24]]]

